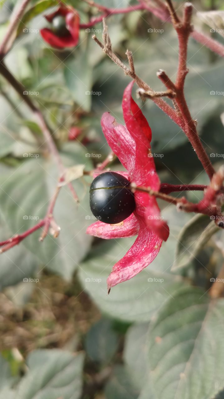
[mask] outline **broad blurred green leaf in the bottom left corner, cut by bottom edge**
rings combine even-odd
[[[63,350],[36,350],[28,356],[29,371],[22,378],[17,397],[23,399],[79,399],[84,355]]]

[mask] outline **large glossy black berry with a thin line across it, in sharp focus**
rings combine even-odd
[[[134,194],[130,182],[116,172],[97,176],[90,186],[90,209],[104,223],[120,223],[135,209]]]

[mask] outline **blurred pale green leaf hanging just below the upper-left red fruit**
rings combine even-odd
[[[75,103],[84,111],[91,108],[92,68],[88,64],[87,52],[79,53],[77,58],[65,63],[65,83]]]

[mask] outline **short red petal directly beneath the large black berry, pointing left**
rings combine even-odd
[[[104,239],[133,237],[138,232],[139,223],[134,213],[121,223],[110,225],[97,221],[87,227],[86,230],[87,234]]]

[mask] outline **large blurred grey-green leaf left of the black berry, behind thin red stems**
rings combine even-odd
[[[78,163],[85,162],[86,168],[91,169],[91,162],[89,158],[85,158],[80,145],[75,142],[69,143],[66,148],[66,154],[62,154],[65,166],[74,165],[75,159]],[[57,185],[58,172],[52,160],[24,159],[22,166],[14,172],[10,170],[7,177],[2,177],[0,210],[11,232],[10,235],[2,237],[2,240],[15,233],[26,231],[42,219]],[[91,237],[85,232],[88,225],[86,214],[90,213],[86,188],[83,182],[78,180],[74,182],[74,188],[81,200],[80,205],[77,205],[67,187],[61,189],[55,204],[55,221],[61,227],[59,237],[53,239],[48,235],[43,243],[40,243],[38,238],[41,230],[39,230],[29,235],[18,246],[23,245],[27,253],[33,253],[34,258],[39,259],[41,269],[46,266],[65,279],[71,278],[91,243]],[[6,256],[11,257],[10,253],[7,252]],[[19,258],[11,265],[12,270],[18,273],[16,265],[22,269],[24,260]],[[29,276],[23,275],[23,277]],[[10,275],[8,278],[11,278]]]

